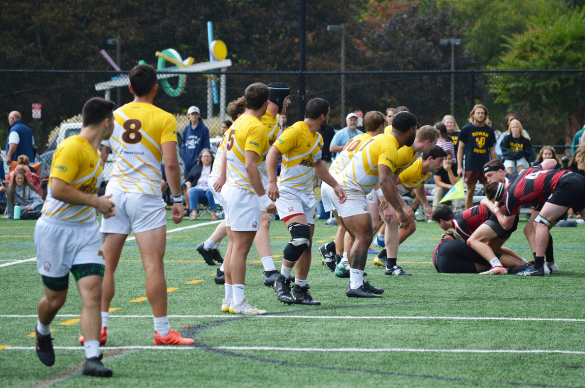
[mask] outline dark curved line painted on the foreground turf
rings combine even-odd
[[[397,304],[415,304],[415,303],[449,303],[449,302],[465,302],[465,301],[488,301],[488,300],[526,300],[526,299],[559,299],[559,298],[584,298],[585,296],[556,296],[556,297],[517,297],[517,298],[482,298],[482,299],[453,299],[453,300],[428,300],[428,301],[410,301],[410,302],[393,302],[393,303],[377,303],[377,304],[360,304],[360,305],[351,305],[351,306],[338,306],[338,307],[316,307],[316,308],[308,308],[302,310],[292,310],[292,311],[278,311],[277,313],[271,313],[268,315],[284,315],[284,314],[292,314],[292,313],[306,313],[307,311],[323,311],[323,310],[334,310],[337,308],[355,308],[355,307],[375,307],[375,306],[384,306],[384,305],[397,305]],[[505,384],[505,385],[512,385],[512,386],[524,386],[524,387],[546,387],[546,388],[583,388],[583,387],[576,387],[576,386],[563,386],[563,385],[549,385],[549,384],[531,384],[531,383],[519,383],[519,382],[502,382],[502,381],[493,381],[493,380],[473,380],[473,379],[457,379],[456,377],[444,377],[444,376],[430,376],[430,375],[415,375],[412,373],[398,373],[398,372],[385,372],[381,370],[369,370],[369,369],[354,369],[354,368],[335,368],[331,366],[322,366],[316,364],[301,364],[301,363],[294,363],[289,361],[283,360],[275,360],[269,358],[260,358],[249,356],[245,354],[236,353],[233,351],[225,351],[222,349],[215,349],[213,346],[209,346],[204,344],[203,342],[198,341],[195,337],[204,329],[225,324],[228,322],[238,321],[253,318],[253,315],[249,316],[242,316],[242,317],[230,317],[219,321],[211,321],[205,322],[204,324],[196,325],[192,329],[186,329],[183,331],[183,334],[187,337],[191,337],[195,340],[195,344],[192,346],[198,349],[204,349],[208,352],[213,352],[223,356],[230,356],[230,357],[238,357],[244,358],[252,361],[259,361],[259,362],[268,362],[273,363],[276,365],[283,365],[283,366],[293,366],[297,368],[314,368],[314,369],[322,369],[322,370],[337,370],[339,372],[360,372],[360,373],[371,373],[374,375],[387,375],[387,376],[398,376],[398,377],[415,377],[419,379],[431,379],[431,380],[440,380],[440,381],[447,381],[447,382],[469,382],[469,383],[482,383],[482,384]]]

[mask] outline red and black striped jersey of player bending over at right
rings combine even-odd
[[[541,166],[525,169],[518,178],[508,186],[504,214],[508,217],[515,215],[518,208],[524,204],[542,204],[555,191],[559,179],[569,170],[543,170]]]

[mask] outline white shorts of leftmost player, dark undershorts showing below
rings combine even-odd
[[[106,265],[99,224],[67,222],[44,215],[35,226],[37,271],[47,277],[66,276],[78,264]]]

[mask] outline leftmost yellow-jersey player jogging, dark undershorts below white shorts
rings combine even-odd
[[[112,195],[97,196],[104,178],[97,148],[112,135],[114,108],[99,97],[85,102],[80,134],[63,140],[53,154],[47,200],[35,228],[37,270],[44,284],[35,325],[37,356],[44,365],[55,363],[51,321],[65,303],[71,272],[81,294],[81,332],[87,338],[83,374],[100,377],[111,377],[112,370],[98,355],[105,261],[95,210],[109,218],[116,208]]]

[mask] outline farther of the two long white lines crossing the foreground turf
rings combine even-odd
[[[36,318],[37,315],[0,315],[0,318]],[[56,317],[79,318],[78,314],[59,314]],[[152,318],[152,315],[110,315],[110,318]],[[230,315],[168,315],[169,318],[229,318]],[[552,321],[585,322],[580,318],[515,318],[515,317],[425,317],[425,316],[370,316],[352,317],[351,315],[258,315],[256,319],[300,318],[308,320],[459,320],[459,321]]]

